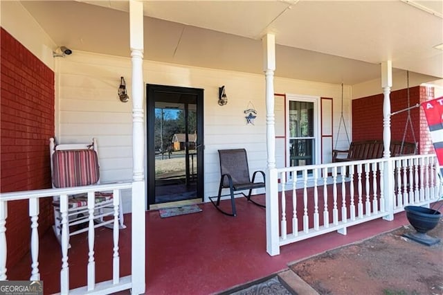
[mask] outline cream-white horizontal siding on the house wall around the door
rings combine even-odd
[[[61,143],[98,139],[102,181],[132,179],[132,102],[118,100],[120,76],[131,99],[129,58],[75,51],[58,60],[56,75],[56,136]],[[264,75],[201,69],[145,61],[144,80],[204,89],[205,199],[217,194],[219,149],[245,148],[251,171],[266,169],[266,104]],[[228,104],[217,104],[225,85]],[[334,98],[334,130],[338,127],[341,85],[275,78],[276,93],[296,93]],[[349,124],[350,88],[345,87],[343,109]],[[244,110],[257,111],[254,125],[246,124]],[[337,113],[338,110],[338,113]],[[275,129],[284,136],[284,98],[275,98]],[[276,142],[278,167],[284,165],[284,140]],[[130,200],[128,201],[130,204]],[[125,199],[123,200],[125,203]],[[124,207],[129,208],[128,204]]]

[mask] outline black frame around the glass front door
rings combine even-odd
[[[156,93],[182,93],[197,96],[197,196],[204,200],[204,89],[177,87],[159,84],[146,84],[146,190],[147,208],[155,204],[155,96]],[[152,163],[154,161],[154,163]]]

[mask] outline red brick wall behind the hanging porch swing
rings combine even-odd
[[[428,100],[428,96],[425,97],[423,94],[424,89],[426,87],[420,86],[409,89],[410,106]],[[433,97],[433,91],[432,93],[429,93],[429,91],[427,93]],[[405,109],[408,107],[408,90],[392,91],[390,93],[390,102],[391,112]],[[392,141],[401,141],[403,139],[407,118],[408,111],[391,116]],[[422,145],[427,144],[425,138],[428,137],[426,137],[426,117],[424,117],[421,107],[411,109],[410,118],[415,133],[415,140],[412,128],[408,125],[405,141],[419,141],[419,152],[422,152],[424,148]],[[426,132],[424,131],[423,123],[426,124]],[[383,93],[352,100],[352,140],[362,141],[368,139],[383,139]]]

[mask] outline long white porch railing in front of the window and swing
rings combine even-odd
[[[437,168],[435,154],[426,154],[272,169],[266,250],[278,255],[285,244],[428,206],[443,193]]]

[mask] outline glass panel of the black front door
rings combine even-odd
[[[155,203],[197,197],[197,101],[155,102]]]

